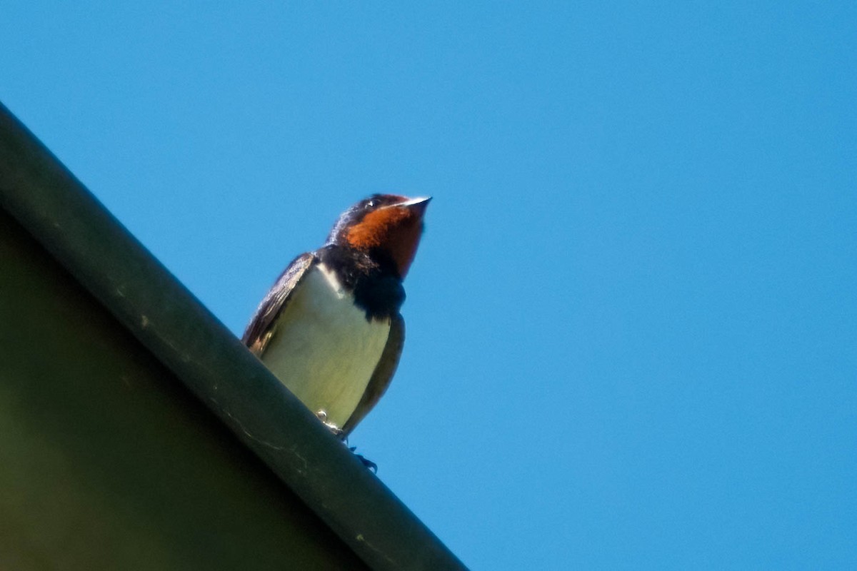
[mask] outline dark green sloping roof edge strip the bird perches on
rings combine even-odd
[[[370,567],[464,568],[3,104],[0,207]]]

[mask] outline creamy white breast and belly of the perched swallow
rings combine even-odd
[[[311,268],[292,292],[261,360],[303,404],[341,427],[381,359],[389,320],[369,322],[332,271]]]

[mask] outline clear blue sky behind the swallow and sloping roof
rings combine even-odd
[[[351,443],[471,567],[857,567],[853,3],[0,12],[0,100],[236,334],[434,196]]]

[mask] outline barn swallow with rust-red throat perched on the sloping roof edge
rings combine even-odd
[[[399,365],[402,280],[429,200],[374,194],[351,206],[324,246],[286,267],[244,331],[250,351],[343,439]]]

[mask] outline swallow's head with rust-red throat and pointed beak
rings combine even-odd
[[[397,194],[373,194],[351,206],[333,226],[328,244],[351,247],[393,259],[405,277],[423,234],[423,214],[430,197],[409,199]]]

